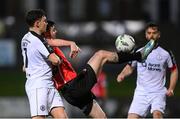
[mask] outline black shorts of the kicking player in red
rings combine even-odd
[[[79,107],[86,115],[89,115],[95,98],[91,89],[96,82],[96,74],[87,64],[74,80],[62,87],[61,93],[68,103]]]

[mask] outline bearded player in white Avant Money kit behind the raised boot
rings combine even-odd
[[[137,67],[137,83],[128,118],[145,117],[151,108],[153,118],[162,118],[166,105],[166,96],[173,96],[178,79],[178,69],[172,52],[158,44],[160,30],[157,24],[149,23],[145,29],[147,40],[153,39],[157,45],[144,62],[133,61],[127,64],[118,75],[121,82]],[[170,84],[165,87],[166,69],[170,69]]]

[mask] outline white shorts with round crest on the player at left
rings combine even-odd
[[[54,107],[64,107],[62,98],[55,88],[37,88],[26,91],[31,117],[48,115]]]

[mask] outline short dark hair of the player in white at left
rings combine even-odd
[[[26,23],[32,27],[35,21],[41,19],[43,16],[46,16],[46,14],[42,9],[30,10],[26,14]]]

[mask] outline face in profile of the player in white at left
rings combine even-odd
[[[38,20],[38,27],[41,33],[44,33],[46,31],[47,27],[47,19],[45,16],[43,16],[40,20]]]

